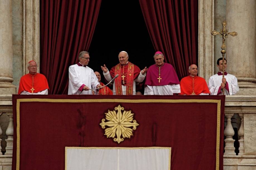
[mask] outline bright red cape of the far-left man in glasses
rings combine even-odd
[[[20,94],[22,91],[32,93],[32,87],[34,89],[34,93],[49,89],[46,77],[40,73],[36,73],[35,75],[29,73],[25,74],[20,78],[18,94]]]

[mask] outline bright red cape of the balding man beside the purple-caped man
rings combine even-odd
[[[193,86],[194,84],[194,86]],[[194,88],[194,93],[196,95],[201,94],[201,93],[208,93],[210,94],[210,91],[208,89],[207,83],[204,80],[204,78],[201,78],[199,76],[187,76],[184,77],[183,79],[181,79],[180,82],[180,86],[181,86],[181,95],[190,95],[193,92],[193,88]]]

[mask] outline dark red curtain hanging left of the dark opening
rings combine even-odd
[[[67,94],[69,66],[88,50],[101,0],[40,1],[40,73],[50,94]]]

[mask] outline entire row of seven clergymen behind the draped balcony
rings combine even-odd
[[[204,78],[197,76],[196,64],[191,64],[188,68],[189,76],[179,81],[173,66],[164,62],[162,52],[157,51],[153,58],[155,64],[140,70],[128,61],[128,53],[121,51],[116,66],[110,70],[105,64],[101,66],[104,78],[108,84],[113,84],[111,90],[106,86],[108,84],[101,82],[101,74],[87,66],[90,56],[87,51],[82,51],[78,56],[79,62],[69,67],[68,94],[142,95],[141,92],[136,92],[136,86],[144,80],[144,95],[222,95],[223,91],[225,95],[235,95],[239,91],[237,78],[226,72],[226,59],[224,62],[222,58],[217,60],[219,72],[210,77],[207,85]],[[28,63],[28,71],[29,73],[20,79],[18,94],[48,94],[47,79],[43,74],[37,73],[35,61]]]

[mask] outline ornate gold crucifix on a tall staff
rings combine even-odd
[[[223,26],[223,29],[220,31],[220,32],[217,32],[217,31],[213,31],[211,32],[211,34],[213,36],[215,35],[222,35],[222,45],[221,45],[221,54],[222,54],[222,77],[224,78],[224,57],[225,57],[225,53],[226,53],[226,45],[225,45],[225,37],[228,36],[228,35],[231,35],[231,36],[237,36],[237,33],[236,32],[232,32],[232,33],[228,33],[228,30],[226,30],[226,25],[227,25],[227,21],[223,21],[222,22],[222,26]],[[224,89],[222,91],[222,94],[224,95]]]

